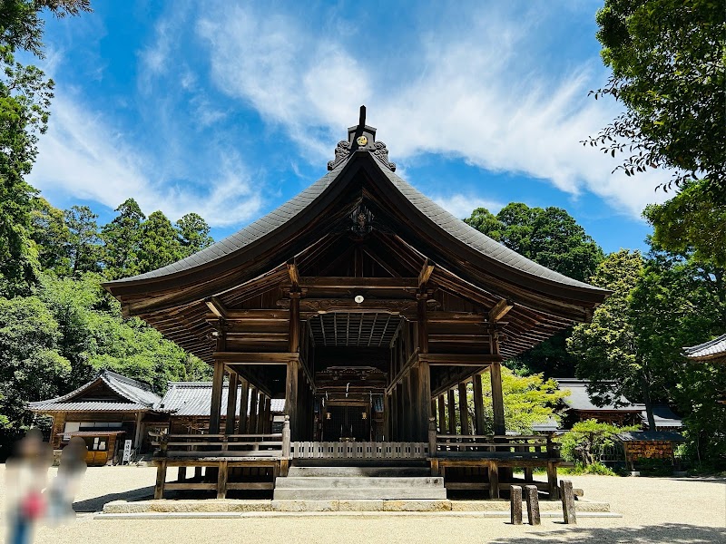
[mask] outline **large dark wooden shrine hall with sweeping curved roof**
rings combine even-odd
[[[224,496],[274,486],[290,464],[414,460],[444,474],[449,489],[471,483],[495,497],[499,467],[537,465],[549,467],[554,494],[552,444],[506,436],[501,364],[587,320],[608,291],[505,248],[399,178],[365,108],[328,170],[210,248],[104,284],[125,315],[214,367],[211,434],[197,443],[170,435],[160,474],[206,463]],[[469,382],[472,421],[458,400]],[[252,414],[235,417],[248,405],[236,398],[240,383],[250,385],[243,392],[284,397],[289,437],[242,431]],[[271,483],[233,482],[253,465],[270,471]],[[163,489],[158,481],[157,496]]]

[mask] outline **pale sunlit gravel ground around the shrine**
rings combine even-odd
[[[515,527],[503,519],[446,515],[93,520],[93,511],[100,510],[104,502],[149,497],[154,478],[153,468],[90,468],[74,505],[78,519],[61,528],[41,527],[35,542],[726,543],[723,479],[572,477],[574,486],[584,489],[586,499],[609,501],[611,510],[623,514],[620,519],[581,518],[576,527],[547,519],[539,527]],[[0,481],[3,497],[4,481]]]

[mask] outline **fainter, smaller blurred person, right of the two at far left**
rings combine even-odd
[[[48,520],[62,523],[75,518],[74,498],[87,468],[88,447],[80,436],[74,436],[61,452],[58,474],[48,491]]]

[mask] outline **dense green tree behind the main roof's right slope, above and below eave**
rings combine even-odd
[[[496,215],[479,208],[466,223],[544,267],[580,281],[594,274],[603,250],[562,208],[530,208],[522,202],[507,204]],[[523,372],[571,376],[575,360],[565,347],[570,329],[518,355],[510,364]]]

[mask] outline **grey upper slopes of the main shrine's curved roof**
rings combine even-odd
[[[236,234],[222,239],[209,248],[204,248],[190,257],[185,257],[182,260],[172,263],[166,267],[158,268],[138,276],[118,279],[104,285],[113,287],[113,285],[134,282],[142,279],[163,277],[181,272],[182,270],[210,263],[211,261],[221,257],[226,257],[231,253],[248,246],[250,243],[270,234],[270,232],[274,229],[284,225],[289,221],[289,219],[297,216],[314,199],[318,198],[325,189],[328,189],[328,187],[338,178],[338,174],[348,164],[350,158],[354,156],[355,154],[351,153],[348,160],[341,162],[335,170],[331,170],[328,174],[310,185],[308,189],[303,190],[298,196],[290,199],[288,202],[280,206],[280,208],[271,211],[263,218],[258,219],[245,228],[242,228]],[[566,277],[554,272],[554,270],[538,265],[535,261],[519,255],[512,249],[505,248],[505,246],[499,242],[496,242],[492,238],[489,238],[485,234],[479,232],[476,228],[469,227],[464,221],[457,219],[455,216],[446,211],[446,209],[441,208],[436,202],[420,193],[417,189],[414,189],[407,181],[399,178],[393,171],[388,170],[388,168],[381,164],[378,160],[373,160],[373,162],[376,163],[378,168],[380,168],[393,186],[396,187],[396,189],[398,189],[400,193],[419,211],[427,216],[427,218],[431,219],[439,228],[444,229],[451,236],[460,239],[469,247],[476,249],[476,251],[499,261],[505,266],[519,269],[528,275],[541,277],[545,280],[556,282],[561,285],[584,287],[592,291],[607,292],[606,289],[594,287],[584,282],[577,281],[571,277]]]

